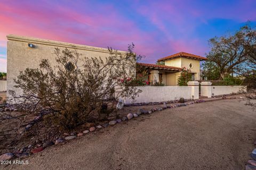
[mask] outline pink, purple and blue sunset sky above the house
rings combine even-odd
[[[0,0],[0,72],[6,35],[134,51],[141,62],[179,52],[205,56],[208,40],[256,25],[256,1],[20,1]]]

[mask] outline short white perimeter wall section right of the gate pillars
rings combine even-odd
[[[246,92],[246,86],[211,86],[213,96]]]

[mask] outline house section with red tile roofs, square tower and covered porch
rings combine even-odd
[[[147,70],[146,80],[160,82],[165,86],[177,86],[183,67],[190,69],[192,80],[200,80],[200,61],[207,60],[194,54],[180,52],[157,60],[158,64],[137,63]]]

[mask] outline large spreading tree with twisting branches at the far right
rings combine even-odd
[[[249,47],[253,46],[253,30],[249,23],[234,35],[214,37],[209,40],[211,47],[207,58],[218,67],[220,78],[233,74],[235,67],[248,60]]]

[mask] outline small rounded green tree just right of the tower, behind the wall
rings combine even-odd
[[[202,64],[203,71],[202,77],[206,77],[207,80],[218,80],[220,78],[220,71],[218,66],[212,61],[205,61]]]

